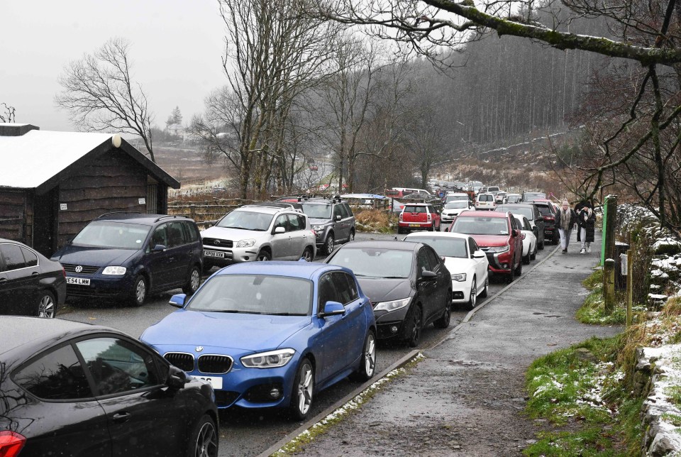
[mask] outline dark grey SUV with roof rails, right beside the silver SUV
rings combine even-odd
[[[331,254],[336,241],[355,239],[355,215],[350,205],[341,197],[304,198],[300,201],[303,212],[310,219],[316,245],[326,254]]]

